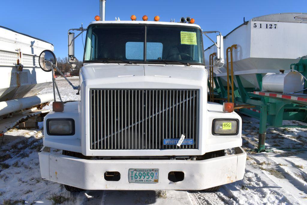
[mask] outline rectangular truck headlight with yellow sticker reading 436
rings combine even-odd
[[[214,119],[212,122],[213,135],[237,135],[239,132],[239,120]]]

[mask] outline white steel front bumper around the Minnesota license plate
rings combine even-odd
[[[39,152],[41,177],[53,182],[86,190],[203,190],[243,179],[246,153],[241,147],[235,154],[208,160],[84,160],[51,153],[48,147]],[[159,169],[158,183],[129,183],[129,168]],[[119,181],[106,181],[106,171],[118,171]],[[170,171],[182,171],[180,182],[168,179]]]

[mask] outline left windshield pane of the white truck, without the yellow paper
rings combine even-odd
[[[87,30],[85,61],[144,61],[144,25],[97,25]]]

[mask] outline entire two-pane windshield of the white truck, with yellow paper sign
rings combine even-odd
[[[169,25],[90,26],[84,61],[203,65],[201,31]]]

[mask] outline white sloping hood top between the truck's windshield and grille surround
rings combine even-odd
[[[133,76],[169,77],[205,81],[207,71],[201,67],[181,65],[114,65],[103,63],[86,64],[80,69],[80,83],[89,79]]]

